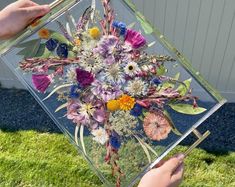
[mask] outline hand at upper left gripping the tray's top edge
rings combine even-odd
[[[8,5],[0,12],[0,39],[13,37],[49,11],[49,5],[38,5],[30,0],[18,0]]]

